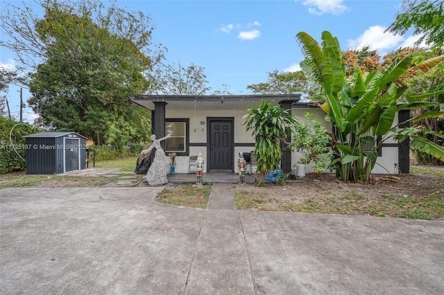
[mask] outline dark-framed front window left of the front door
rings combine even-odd
[[[171,137],[165,141],[165,152],[176,152],[182,156],[188,154],[188,125],[189,119],[165,120],[165,133],[172,132]]]

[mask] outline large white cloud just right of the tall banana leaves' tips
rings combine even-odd
[[[384,50],[398,46],[404,39],[400,35],[384,33],[386,28],[382,26],[370,26],[357,39],[348,39],[350,49],[361,49],[364,46],[370,46],[372,50]]]

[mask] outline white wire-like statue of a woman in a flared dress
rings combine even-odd
[[[155,135],[151,135],[151,141],[153,144],[148,147],[146,150],[142,150],[141,154],[146,154],[151,152],[153,147],[155,147],[155,156],[154,161],[151,164],[151,167],[148,169],[148,173],[146,173],[146,181],[150,186],[157,186],[159,184],[167,184],[167,161],[165,161],[165,152],[160,146],[160,141],[164,141],[167,138],[171,137],[171,133],[165,137],[160,139],[156,139]]]

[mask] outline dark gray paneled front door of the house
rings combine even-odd
[[[232,170],[233,120],[210,120],[210,170]]]

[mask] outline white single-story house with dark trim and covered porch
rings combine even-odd
[[[280,105],[299,118],[304,118],[305,112],[309,111],[312,117],[325,124],[327,130],[331,130],[331,123],[325,120],[323,110],[311,102],[299,102],[300,94],[132,95],[128,99],[151,110],[151,125],[157,138],[162,138],[169,131],[173,132],[171,138],[166,142],[162,141],[162,147],[167,157],[169,153],[177,154],[176,173],[189,172],[189,157],[198,153],[203,154],[204,172],[223,170],[237,173],[239,153],[250,152],[255,146],[255,138],[251,130],[246,131],[242,117],[247,114],[248,109],[257,108],[262,100],[270,101],[271,105]],[[300,156],[298,152],[283,150],[282,170],[293,170]],[[409,143],[384,143],[373,173],[393,173],[398,168],[401,172],[409,172]],[[307,166],[306,172],[313,170]]]

